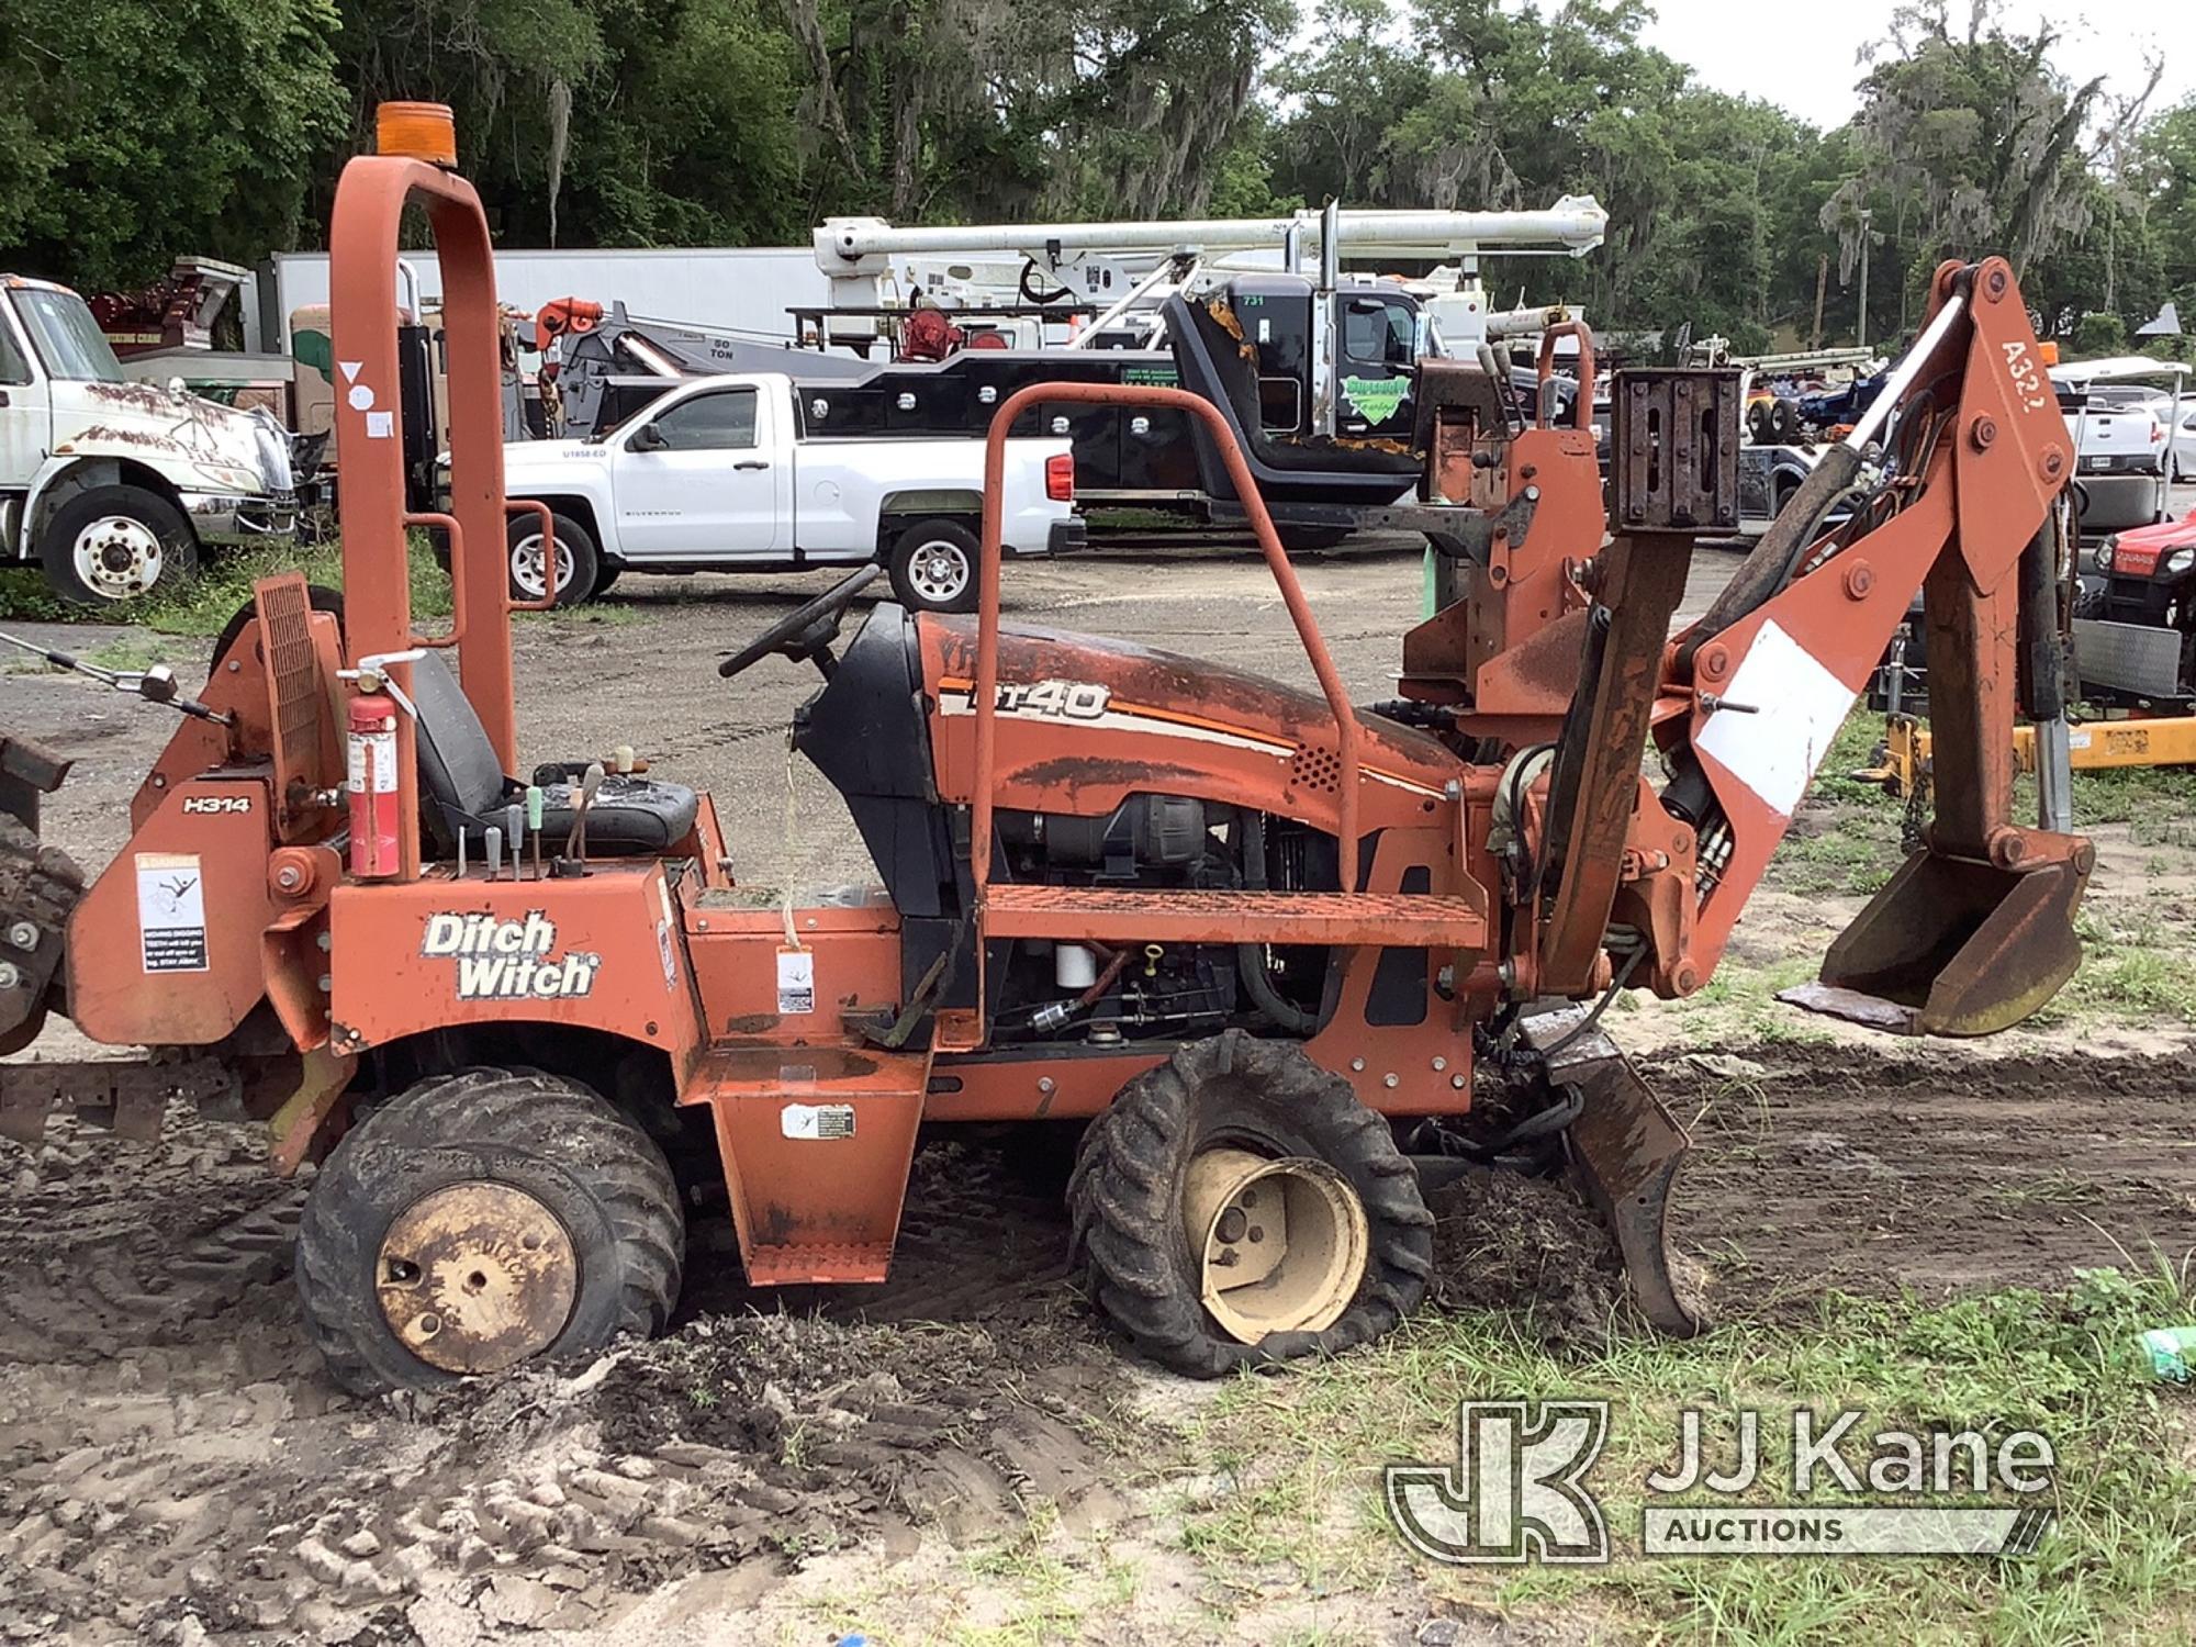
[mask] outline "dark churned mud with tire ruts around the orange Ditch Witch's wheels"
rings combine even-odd
[[[2196,1250],[2172,1063],[1757,1050],[1647,1076],[1693,1127],[1671,1230],[1726,1320]],[[1155,1443],[1065,1271],[1069,1142],[925,1142],[881,1287],[751,1291],[703,1217],[665,1340],[369,1403],[305,1344],[299,1190],[250,1129],[7,1146],[0,1638],[676,1647],[738,1638],[725,1618],[834,1550],[964,1548],[1039,1500],[1105,1537]],[[1467,1179],[1436,1212],[1432,1307],[1550,1346],[1634,1331],[1559,1181]]]

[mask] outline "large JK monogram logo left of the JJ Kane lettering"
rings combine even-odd
[[[1610,1559],[1586,1471],[1610,1438],[1607,1401],[1465,1401],[1456,1467],[1388,1465],[1388,1515],[1436,1561]]]

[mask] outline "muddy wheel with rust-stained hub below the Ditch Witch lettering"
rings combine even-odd
[[[652,1335],[683,1263],[663,1151],[538,1069],[466,1069],[391,1098],[336,1144],[296,1236],[305,1329],[354,1394]]]

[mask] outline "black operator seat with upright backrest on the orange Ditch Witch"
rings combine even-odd
[[[525,799],[525,784],[503,771],[457,676],[441,652],[413,663],[413,703],[419,705],[419,813],[437,852],[457,850],[457,837],[481,845],[490,824],[503,826],[512,802]],[[542,791],[542,834],[562,848],[578,817],[578,775],[571,762],[542,766],[534,780]],[[589,856],[643,856],[668,852],[694,832],[701,799],[685,784],[608,775],[586,810]]]

